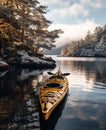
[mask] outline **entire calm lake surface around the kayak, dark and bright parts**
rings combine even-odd
[[[106,59],[53,58],[53,70],[11,70],[0,78],[0,130],[106,130]],[[59,67],[70,72],[69,92],[44,121],[36,86]]]

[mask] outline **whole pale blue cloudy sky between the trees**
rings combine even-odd
[[[50,30],[64,31],[55,42],[57,47],[84,38],[88,30],[106,24],[106,0],[39,0],[48,6],[46,18],[53,21]]]

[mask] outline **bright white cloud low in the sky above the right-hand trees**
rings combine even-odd
[[[66,24],[54,24],[50,26],[50,30],[54,29],[62,29],[64,31],[63,34],[60,35],[60,38],[57,39],[55,45],[57,47],[63,46],[71,41],[80,40],[84,38],[88,32],[88,30],[93,33],[95,27],[98,24],[93,20],[86,20],[83,23],[75,24],[75,25],[66,25]]]

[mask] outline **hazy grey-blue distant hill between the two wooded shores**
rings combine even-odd
[[[45,50],[45,55],[60,55],[61,54],[61,47],[53,48],[52,50]]]

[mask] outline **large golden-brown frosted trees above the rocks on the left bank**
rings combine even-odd
[[[38,0],[0,0],[0,57],[16,56],[18,50],[42,56],[42,48],[54,47],[62,31],[48,30],[47,12]]]

